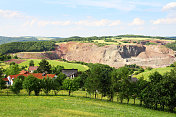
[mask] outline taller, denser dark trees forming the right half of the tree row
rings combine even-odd
[[[86,72],[87,78],[81,78],[84,88],[96,98],[97,93],[102,97],[108,96],[113,101],[114,96],[117,101],[123,103],[126,99],[140,100],[140,105],[151,109],[165,110],[171,112],[176,107],[176,70],[161,75],[154,72],[149,76],[149,80],[141,77],[139,80],[131,79],[132,71],[127,67],[119,69],[111,68],[107,65],[94,64]]]

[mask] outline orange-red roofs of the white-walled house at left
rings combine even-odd
[[[17,74],[17,75],[9,75],[11,78],[17,78],[18,76],[29,76],[29,75],[33,75],[34,77],[38,78],[38,79],[43,79],[46,78],[47,76],[50,78],[54,78],[55,74],[43,74],[43,73],[27,73],[27,74]],[[7,78],[3,78],[4,81],[8,81]]]

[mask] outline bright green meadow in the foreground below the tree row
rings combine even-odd
[[[59,96],[0,96],[0,116],[7,117],[175,117],[174,113],[85,98],[84,91]]]

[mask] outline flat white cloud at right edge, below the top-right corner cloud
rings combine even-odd
[[[176,18],[161,18],[152,22],[153,24],[176,24]]]

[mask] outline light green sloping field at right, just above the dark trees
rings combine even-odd
[[[140,77],[144,77],[144,79],[148,80],[148,77],[151,73],[157,71],[160,74],[165,74],[166,72],[169,72],[171,69],[173,69],[173,67],[164,67],[164,68],[154,68],[152,70],[145,70],[144,72],[138,74],[138,75],[134,75],[134,77],[136,78],[140,78]]]

